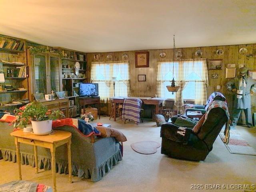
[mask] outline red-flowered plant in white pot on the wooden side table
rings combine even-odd
[[[52,131],[52,120],[65,117],[60,110],[50,110],[40,102],[32,102],[16,109],[17,117],[14,128],[22,126],[26,128],[31,122],[34,134],[44,135]]]

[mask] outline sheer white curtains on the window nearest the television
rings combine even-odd
[[[91,82],[99,84],[99,96],[107,102],[114,96],[114,82],[116,78],[115,96],[130,94],[130,66],[129,62],[92,62]]]

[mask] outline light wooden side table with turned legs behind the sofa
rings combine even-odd
[[[67,144],[68,147],[68,174],[69,182],[72,183],[72,170],[71,170],[71,133],[67,131],[54,130],[54,133],[37,136],[32,133],[26,133],[22,130],[17,130],[11,133],[11,136],[15,138],[16,153],[17,153],[17,163],[19,167],[19,176],[21,176],[21,165],[20,165],[20,143],[29,144],[34,146],[35,153],[35,164],[36,173],[38,173],[38,155],[37,146],[48,148],[51,151],[52,156],[52,178],[53,178],[53,192],[56,192],[56,159],[55,151],[58,146]]]

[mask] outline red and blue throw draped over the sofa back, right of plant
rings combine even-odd
[[[52,128],[60,127],[60,126],[72,126],[75,129],[78,129],[80,133],[82,133],[86,137],[90,137],[91,135],[100,135],[100,132],[93,127],[90,123],[85,122],[84,120],[74,119],[74,118],[66,118],[61,120],[56,120],[52,122]]]

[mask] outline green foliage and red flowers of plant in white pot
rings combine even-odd
[[[32,102],[15,110],[16,121],[14,128],[26,127],[31,121],[56,120],[65,117],[60,110],[50,110],[40,102]]]

